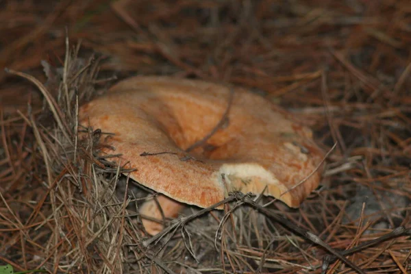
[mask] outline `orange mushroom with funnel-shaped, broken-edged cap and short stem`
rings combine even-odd
[[[116,162],[129,162],[132,179],[160,192],[158,201],[142,205],[143,217],[175,217],[183,203],[206,208],[234,190],[298,208],[319,184],[323,151],[292,114],[249,90],[233,90],[199,80],[132,77],[83,105],[79,123],[113,133],[106,142],[121,153]],[[224,115],[226,123],[213,132]],[[103,152],[113,153],[110,146]],[[151,235],[163,229],[148,219],[143,225]]]

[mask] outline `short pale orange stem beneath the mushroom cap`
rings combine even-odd
[[[173,219],[177,217],[178,213],[184,208],[182,203],[179,203],[169,197],[164,195],[157,195],[155,199],[149,199],[142,204],[140,208],[140,214],[142,215],[142,225],[144,225],[148,234],[154,236],[164,229],[164,225],[162,224],[162,214],[164,214],[164,218]],[[159,208],[161,207],[161,210]],[[149,219],[145,219],[145,217],[149,217]],[[155,219],[157,221],[151,221],[151,219]]]

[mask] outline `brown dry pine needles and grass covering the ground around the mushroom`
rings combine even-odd
[[[50,273],[321,273],[324,249],[241,199],[192,220],[199,211],[187,208],[190,221],[169,222],[174,234],[157,244],[143,236],[146,190],[99,157],[104,133],[76,122],[106,79],[136,71],[248,86],[312,126],[324,149],[337,142],[322,187],[298,210],[258,200],[271,214],[342,253],[409,229],[408,2],[2,3],[0,67],[34,77],[0,72],[0,262]],[[66,26],[82,47],[67,47]],[[394,237],[347,258],[366,273],[406,273],[410,247]],[[332,262],[327,273],[353,273]]]

